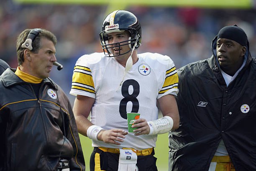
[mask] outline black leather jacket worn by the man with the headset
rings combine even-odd
[[[46,78],[37,98],[14,71],[7,69],[0,77],[0,171],[56,171],[59,156],[69,159],[70,171],[84,171],[67,96]]]

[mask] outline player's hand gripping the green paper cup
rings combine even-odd
[[[136,124],[132,125],[132,128],[137,128],[136,130],[133,131],[136,133],[134,135],[137,136],[137,135],[149,134],[150,128],[148,126],[148,122],[146,121],[146,119],[139,118],[135,120],[134,123]]]

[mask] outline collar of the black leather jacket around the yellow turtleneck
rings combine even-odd
[[[11,87],[15,84],[30,84],[30,83],[24,82],[22,79],[20,79],[15,74],[15,71],[16,71],[16,69],[8,68],[1,75],[0,78],[2,79],[2,82],[5,87]],[[56,84],[50,78],[43,79],[42,84],[50,84],[51,87],[55,87],[55,88],[57,87]]]

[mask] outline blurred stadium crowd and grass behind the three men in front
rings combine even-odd
[[[101,52],[98,34],[103,18],[113,10],[134,13],[142,26],[138,53],[170,56],[176,68],[211,56],[211,41],[223,26],[237,24],[247,33],[256,53],[255,0],[0,0],[0,58],[16,68],[16,38],[25,28],[46,28],[58,43],[56,58],[64,69],[51,78],[69,95],[74,64],[83,54]],[[80,136],[87,171],[91,142]],[[156,145],[159,171],[168,168],[167,134]]]

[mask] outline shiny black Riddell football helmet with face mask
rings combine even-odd
[[[128,31],[130,37],[128,41],[122,41],[119,43],[108,43],[108,33],[112,32],[123,32]],[[119,48],[119,55],[127,54],[133,49],[133,46],[136,44],[135,49],[141,46],[141,24],[133,13],[130,13],[125,10],[116,10],[110,13],[102,23],[102,31],[100,32],[100,42],[104,53],[108,53],[107,56],[113,57],[113,54],[110,51],[110,45],[116,45],[115,47]],[[127,43],[125,43],[127,42]],[[120,43],[124,43],[120,45]],[[120,54],[120,46],[129,45],[130,50]],[[113,46],[111,47],[113,48]]]

